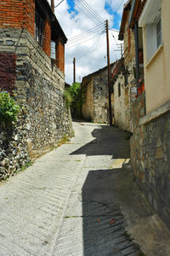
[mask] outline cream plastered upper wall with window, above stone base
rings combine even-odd
[[[144,37],[144,82],[146,113],[170,100],[169,73],[169,3],[146,1],[139,17]]]

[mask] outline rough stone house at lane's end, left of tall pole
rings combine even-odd
[[[115,63],[111,64],[111,73]],[[82,117],[94,123],[109,122],[108,67],[82,78]],[[111,94],[113,107],[113,94]]]

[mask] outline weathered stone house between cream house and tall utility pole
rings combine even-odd
[[[124,4],[119,40],[123,40],[123,58],[116,63],[114,71],[114,120],[115,125],[127,131],[133,131],[132,109],[136,91],[136,61],[134,32],[128,27],[132,1]],[[143,74],[142,33],[139,30],[140,74]]]

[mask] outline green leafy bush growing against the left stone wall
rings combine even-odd
[[[20,106],[7,91],[0,92],[0,121],[11,125],[17,121]]]

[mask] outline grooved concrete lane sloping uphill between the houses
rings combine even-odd
[[[161,221],[122,168],[128,167],[127,134],[107,125],[74,128],[71,143],[0,185],[0,255],[137,256],[129,224],[138,230],[138,219],[147,219],[157,232],[155,218],[161,232]],[[141,245],[148,255],[170,255],[167,235],[162,245],[151,237],[147,248],[146,232]]]

